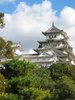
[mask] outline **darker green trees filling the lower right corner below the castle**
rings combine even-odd
[[[75,66],[70,64],[54,64],[49,69],[52,79],[56,82],[52,90],[52,100],[74,100],[75,99]],[[74,75],[74,76],[73,76]]]

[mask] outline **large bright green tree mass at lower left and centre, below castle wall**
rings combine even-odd
[[[4,63],[2,74],[7,79],[6,93],[16,94],[20,100],[42,100],[49,97],[49,71],[38,68],[35,64],[11,60]],[[40,72],[41,71],[41,72]]]

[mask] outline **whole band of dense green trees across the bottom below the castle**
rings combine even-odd
[[[20,60],[4,66],[1,100],[75,100],[75,66],[59,63],[39,68]]]

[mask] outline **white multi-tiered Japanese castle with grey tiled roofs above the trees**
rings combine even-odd
[[[38,41],[38,48],[34,49],[36,54],[22,55],[22,59],[36,63],[39,66],[50,66],[53,63],[72,63],[75,64],[75,56],[72,52],[72,47],[68,43],[66,32],[55,27],[42,32],[45,40]]]

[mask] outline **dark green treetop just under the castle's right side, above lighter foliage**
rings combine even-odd
[[[60,79],[63,75],[71,76],[73,68],[72,65],[66,63],[53,64],[49,69],[51,72],[51,77],[54,80]]]

